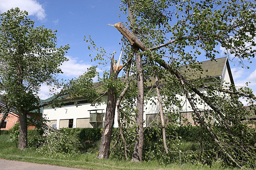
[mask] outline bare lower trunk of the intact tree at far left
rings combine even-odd
[[[19,149],[24,150],[28,145],[28,126],[27,126],[27,113],[20,109],[20,138],[19,138]]]

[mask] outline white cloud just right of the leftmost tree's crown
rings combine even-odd
[[[84,72],[87,71],[87,68],[90,68],[90,64],[85,64],[83,61],[78,62],[77,58],[73,58],[71,56],[66,56],[69,61],[64,62],[61,66],[61,70],[63,71],[63,76],[66,77],[78,77]]]

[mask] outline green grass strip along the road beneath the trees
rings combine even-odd
[[[212,168],[203,165],[185,164],[181,168],[179,164],[159,165],[157,161],[149,162],[130,162],[118,161],[116,159],[97,159],[96,154],[83,153],[73,157],[45,157],[37,155],[34,149],[20,151],[15,147],[15,143],[9,139],[9,135],[0,135],[0,158],[34,162],[38,164],[49,164],[65,166],[71,168],[90,169],[90,170],[224,170],[221,160],[216,161]],[[234,170],[226,168],[225,170]]]

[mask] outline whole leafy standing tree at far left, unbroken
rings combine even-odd
[[[1,100],[17,108],[20,117],[19,148],[27,147],[27,113],[39,106],[42,83],[52,84],[61,73],[68,45],[56,47],[56,30],[34,27],[26,11],[10,9],[0,18]]]

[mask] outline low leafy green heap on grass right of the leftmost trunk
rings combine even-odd
[[[79,154],[80,147],[77,134],[54,131],[46,137],[44,144],[37,149],[37,154],[47,157],[68,157]]]

